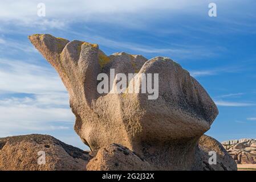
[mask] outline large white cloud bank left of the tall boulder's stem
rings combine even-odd
[[[0,93],[7,94],[0,100],[0,131],[67,130],[61,122],[74,123],[68,93],[53,69],[0,59],[0,77]]]

